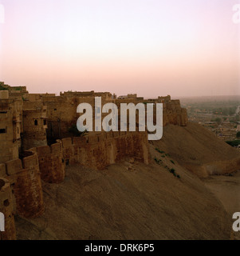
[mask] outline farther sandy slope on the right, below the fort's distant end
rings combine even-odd
[[[153,144],[199,177],[230,173],[240,166],[238,150],[192,122],[186,127],[164,127],[163,138]]]

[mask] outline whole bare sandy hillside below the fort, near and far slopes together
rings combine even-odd
[[[103,171],[69,166],[65,182],[43,182],[45,214],[17,217],[18,239],[230,239],[225,202],[234,193],[221,192],[223,200],[215,191],[222,190],[218,181],[203,182],[183,165],[228,160],[238,152],[195,125],[167,126],[163,140],[153,144],[148,166],[132,159]]]

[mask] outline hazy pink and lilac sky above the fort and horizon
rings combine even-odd
[[[64,90],[240,94],[239,0],[0,0],[0,81]]]

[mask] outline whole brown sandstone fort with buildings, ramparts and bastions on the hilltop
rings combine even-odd
[[[137,94],[116,98],[109,92],[64,92],[55,94],[29,94],[26,86],[8,86],[0,82],[0,212],[6,218],[6,231],[2,239],[15,239],[14,215],[34,218],[44,212],[41,181],[63,182],[65,166],[80,164],[96,170],[126,157],[150,162],[147,131],[139,132],[138,111],[136,131],[89,132],[76,137],[70,128],[77,125],[77,106],[92,106],[103,119],[108,113],[96,106],[115,103],[163,103],[163,126],[168,123],[186,126],[187,110],[170,95],[144,99]],[[154,119],[155,119],[155,112]],[[120,118],[120,112],[118,113]],[[120,126],[120,121],[119,121]],[[49,145],[48,145],[49,144]]]

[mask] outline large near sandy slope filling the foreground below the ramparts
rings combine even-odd
[[[166,160],[167,161],[167,160]],[[18,239],[229,239],[222,205],[198,178],[153,163],[103,172],[69,167],[65,182],[43,184],[45,214],[18,218]]]

